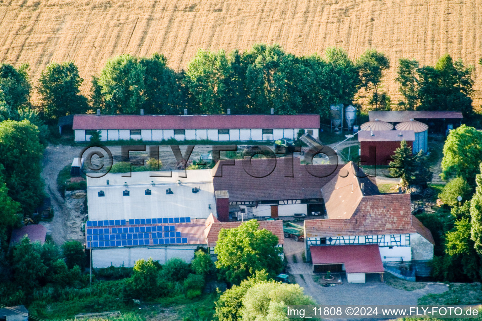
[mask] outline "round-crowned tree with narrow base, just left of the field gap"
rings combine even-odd
[[[378,88],[380,87],[384,71],[390,68],[390,61],[383,52],[368,49],[358,58],[357,66],[360,71],[360,78],[362,79],[362,87],[365,88],[366,91],[373,90],[370,101],[376,110],[381,102],[378,96]]]

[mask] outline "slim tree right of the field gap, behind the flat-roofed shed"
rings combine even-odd
[[[397,77],[395,80],[400,84],[399,90],[403,96],[400,104],[405,110],[415,110],[418,104],[418,61],[400,58],[398,60]]]

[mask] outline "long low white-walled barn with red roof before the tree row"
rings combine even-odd
[[[75,141],[273,141],[300,130],[319,137],[320,115],[75,115]]]

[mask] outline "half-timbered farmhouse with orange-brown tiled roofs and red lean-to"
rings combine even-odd
[[[352,162],[343,167],[322,187],[328,218],[305,220],[313,270],[346,271],[348,282],[365,282],[366,273],[383,272],[381,262],[431,260],[434,240],[412,215],[410,194],[382,194],[362,174]]]

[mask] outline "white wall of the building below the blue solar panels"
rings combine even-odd
[[[133,267],[135,261],[144,258],[147,260],[152,257],[153,260],[159,260],[159,263],[165,264],[167,260],[177,257],[187,263],[191,262],[194,257],[194,251],[197,245],[171,245],[171,246],[137,246],[137,247],[118,247],[118,248],[99,248],[92,251],[93,267],[108,268],[110,265],[120,267]]]

